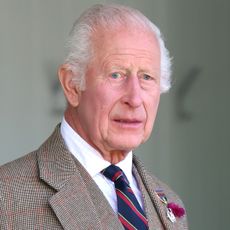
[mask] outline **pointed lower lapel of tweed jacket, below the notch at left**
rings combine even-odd
[[[82,180],[73,176],[49,199],[64,229],[102,229],[95,206]],[[92,218],[93,217],[93,218]]]

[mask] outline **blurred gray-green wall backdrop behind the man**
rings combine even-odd
[[[227,0],[0,0],[0,164],[38,148],[61,121],[57,68],[68,33],[84,9],[101,2],[142,11],[173,57],[173,87],[136,153],[181,196],[190,229],[229,229]]]

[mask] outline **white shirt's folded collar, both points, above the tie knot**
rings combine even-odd
[[[63,117],[61,122],[61,135],[67,145],[68,150],[78,159],[92,178],[98,175],[111,163],[104,160],[101,154],[89,145],[80,135],[78,135]],[[116,164],[125,173],[131,182],[132,177],[132,151],[125,159]]]

